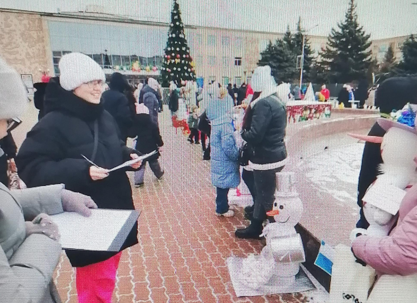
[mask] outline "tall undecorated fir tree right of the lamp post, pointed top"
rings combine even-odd
[[[348,83],[366,77],[371,64],[370,35],[359,25],[354,0],[338,29],[332,29],[327,46],[320,53],[320,66],[327,70],[327,79],[336,83]]]

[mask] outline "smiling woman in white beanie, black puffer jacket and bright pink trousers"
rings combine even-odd
[[[17,156],[20,177],[29,187],[64,184],[91,196],[99,208],[134,209],[126,171],[108,172],[138,156],[122,143],[114,118],[104,111],[104,71],[81,53],[63,56],[59,70],[45,92],[45,117],[27,134]],[[121,251],[136,243],[135,224]],[[110,303],[121,252],[66,254],[77,267],[78,302]]]

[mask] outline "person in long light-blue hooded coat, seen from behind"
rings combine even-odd
[[[229,209],[228,193],[230,188],[240,183],[239,151],[231,116],[233,100],[226,89],[215,91],[218,93],[212,94],[213,99],[207,108],[207,117],[211,121],[211,183],[216,187],[216,215],[233,217],[235,212]]]

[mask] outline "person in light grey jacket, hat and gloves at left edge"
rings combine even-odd
[[[0,139],[23,113],[26,88],[0,58]],[[0,156],[4,152],[0,149]],[[61,247],[49,215],[97,208],[85,195],[52,185],[10,191],[0,184],[0,303],[60,303],[52,282]]]

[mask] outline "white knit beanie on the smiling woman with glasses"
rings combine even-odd
[[[93,80],[105,81],[100,65],[90,57],[79,52],[62,56],[59,61],[59,83],[66,91],[73,91],[83,83]]]

